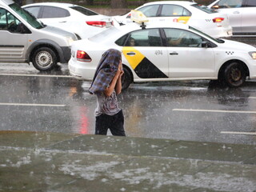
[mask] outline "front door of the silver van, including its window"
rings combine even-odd
[[[25,61],[28,34],[21,32],[21,26],[13,14],[0,8],[0,62]]]

